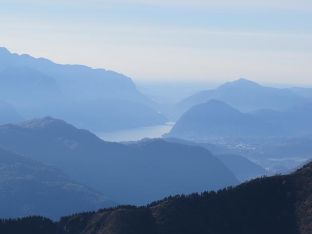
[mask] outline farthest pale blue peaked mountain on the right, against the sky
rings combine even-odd
[[[175,106],[176,117],[179,117],[192,106],[213,98],[224,101],[241,112],[257,109],[281,110],[308,101],[289,89],[265,87],[241,78],[227,82],[215,90],[201,91],[181,100]]]

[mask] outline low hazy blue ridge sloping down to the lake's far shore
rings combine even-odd
[[[78,107],[78,115],[65,120],[93,132],[162,125],[168,121],[154,109],[129,100],[93,99],[80,101]]]

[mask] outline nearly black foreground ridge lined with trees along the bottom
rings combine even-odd
[[[147,207],[103,209],[54,224],[38,216],[4,220],[0,233],[311,234],[311,191],[309,163],[291,175],[258,178],[216,193],[167,197]]]

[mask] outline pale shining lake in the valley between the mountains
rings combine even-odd
[[[166,125],[155,125],[142,128],[126,129],[115,132],[95,133],[99,138],[105,141],[131,141],[141,140],[142,138],[158,138],[165,133],[169,133],[174,123],[169,122]]]

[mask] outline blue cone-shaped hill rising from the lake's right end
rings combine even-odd
[[[281,131],[253,115],[243,114],[222,101],[211,99],[185,112],[164,137],[268,136]]]

